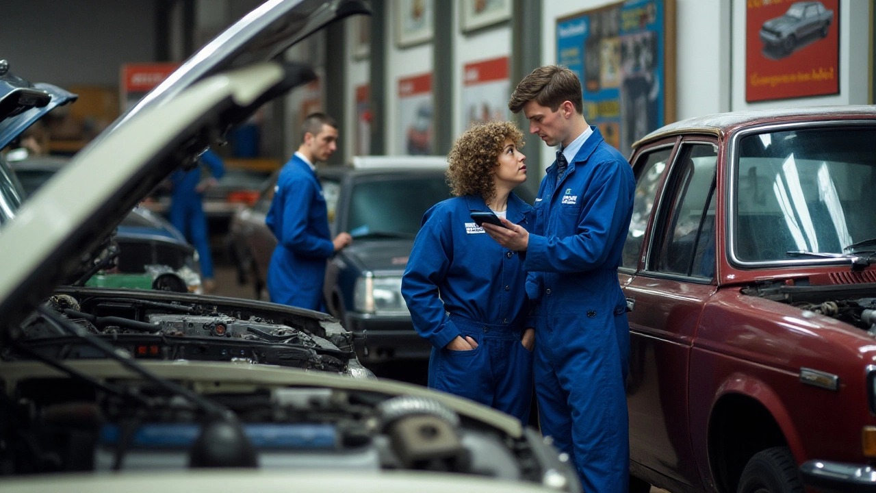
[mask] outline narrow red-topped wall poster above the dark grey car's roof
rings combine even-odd
[[[432,74],[399,79],[399,154],[432,154]]]

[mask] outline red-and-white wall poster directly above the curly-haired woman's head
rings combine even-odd
[[[477,61],[463,68],[463,129],[473,123],[511,118],[508,111],[508,57]]]

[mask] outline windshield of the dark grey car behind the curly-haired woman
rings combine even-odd
[[[369,177],[353,187],[347,231],[354,237],[397,233],[413,238],[423,213],[449,196],[444,175]]]

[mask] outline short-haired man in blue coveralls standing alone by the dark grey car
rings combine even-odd
[[[350,245],[350,233],[335,239],[329,233],[329,211],[316,177],[315,163],[335,152],[334,118],[313,113],[301,125],[302,142],[280,171],[265,224],[277,237],[268,268],[268,293],[273,303],[325,311],[322,282],[326,261]]]

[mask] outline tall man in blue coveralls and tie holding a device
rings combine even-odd
[[[587,125],[581,82],[569,68],[536,68],[508,108],[524,112],[530,133],[560,146],[531,232],[505,220],[508,229],[484,225],[503,247],[525,252],[541,432],[575,462],[584,491],[625,492],[630,335],[617,268],[632,217],[632,168]]]

